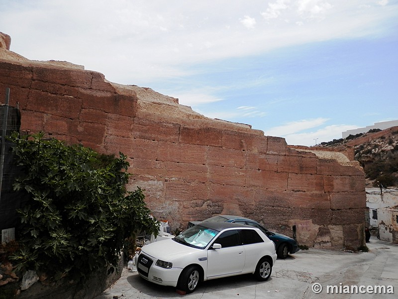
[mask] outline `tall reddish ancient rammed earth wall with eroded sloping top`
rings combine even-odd
[[[0,91],[21,130],[123,152],[129,189],[173,230],[236,214],[321,248],[364,245],[364,172],[341,153],[289,147],[250,126],[205,118],[151,89],[109,83],[67,62],[30,61],[0,42]],[[0,34],[1,40],[1,34]]]

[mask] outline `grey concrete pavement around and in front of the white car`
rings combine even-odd
[[[367,246],[367,253],[301,250],[286,260],[278,259],[271,278],[266,282],[257,282],[251,275],[216,279],[203,282],[194,293],[184,296],[179,295],[175,288],[149,283],[137,272],[124,268],[116,284],[96,299],[398,298],[398,245],[371,237]],[[313,286],[322,287],[322,291],[315,294]],[[358,294],[352,294],[355,286],[359,288]],[[377,289],[375,286],[385,287]],[[369,294],[370,291],[373,294]],[[383,291],[393,291],[394,294],[379,294]]]

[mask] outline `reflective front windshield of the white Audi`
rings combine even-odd
[[[217,230],[195,225],[173,238],[173,240],[187,246],[204,249],[218,233]]]

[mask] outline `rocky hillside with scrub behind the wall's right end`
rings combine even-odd
[[[364,168],[366,184],[398,186],[398,127],[370,130],[345,139],[321,143],[321,147],[353,147],[355,160]]]

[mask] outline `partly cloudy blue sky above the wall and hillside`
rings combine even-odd
[[[0,0],[0,31],[291,145],[398,119],[398,0]]]

